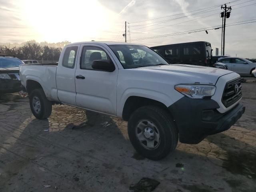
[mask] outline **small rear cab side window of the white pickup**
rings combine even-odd
[[[67,47],[64,52],[62,66],[73,69],[76,62],[76,53],[78,46]]]

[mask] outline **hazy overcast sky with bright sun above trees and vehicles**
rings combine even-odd
[[[225,2],[232,2],[227,4],[227,6],[232,6],[230,18],[226,20],[227,24],[245,20],[256,21],[253,20],[256,19],[256,0],[233,1],[0,0],[0,42],[21,43],[27,40],[36,40],[37,42],[124,41],[122,34],[124,33],[124,22],[127,21],[130,23],[127,24],[127,29],[130,29],[130,35],[127,32],[128,42],[131,40],[138,44],[157,46],[207,41],[212,44],[215,55],[215,48],[219,48],[219,52],[221,48],[221,29],[208,30],[208,34],[202,31],[146,40],[135,39],[201,28],[210,29],[212,26],[221,25],[220,6],[212,6]],[[198,9],[203,10],[194,11]],[[174,14],[178,15],[170,16]],[[190,16],[191,14],[195,15]],[[155,19],[159,17],[165,18]],[[138,22],[142,20],[148,21]],[[160,21],[166,22],[159,24]],[[255,29],[256,22],[227,27],[225,53],[230,56],[237,54],[238,57],[256,58]]]

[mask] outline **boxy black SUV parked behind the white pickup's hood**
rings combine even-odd
[[[212,47],[209,42],[178,43],[151,48],[170,64],[211,66]]]

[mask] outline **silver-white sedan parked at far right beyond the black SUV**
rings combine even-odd
[[[226,64],[228,70],[241,75],[252,75],[252,71],[256,68],[256,63],[244,58],[226,57],[218,59],[218,62]]]

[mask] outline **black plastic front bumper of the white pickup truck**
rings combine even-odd
[[[168,107],[174,118],[182,143],[198,144],[206,136],[228,130],[244,114],[243,104],[226,113],[212,99],[191,99],[186,96]]]

